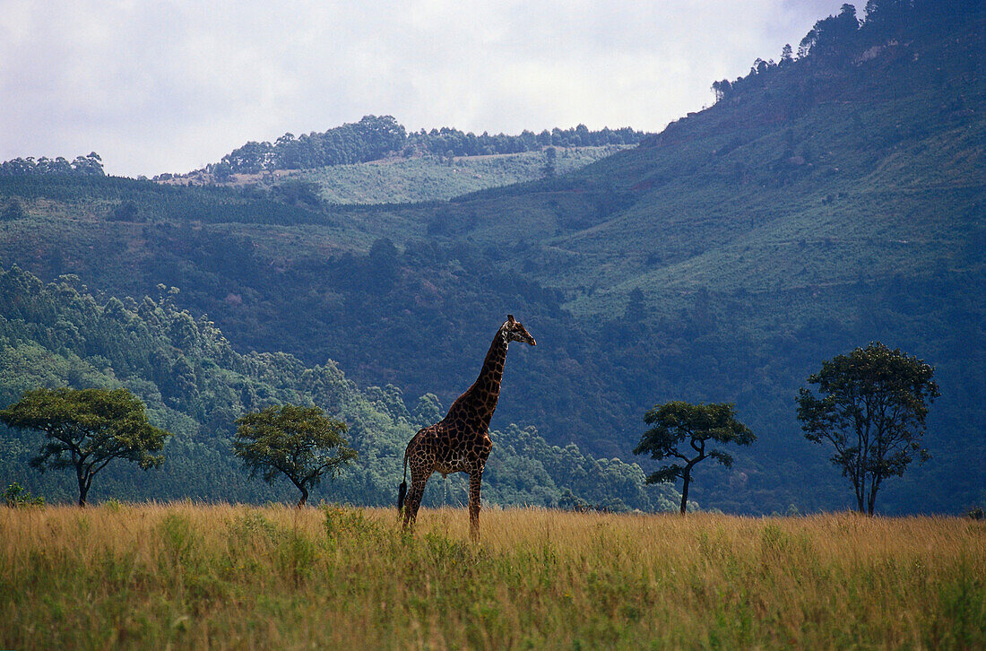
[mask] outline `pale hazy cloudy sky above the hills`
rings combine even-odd
[[[368,113],[660,131],[842,2],[0,0],[0,160],[187,172]]]

